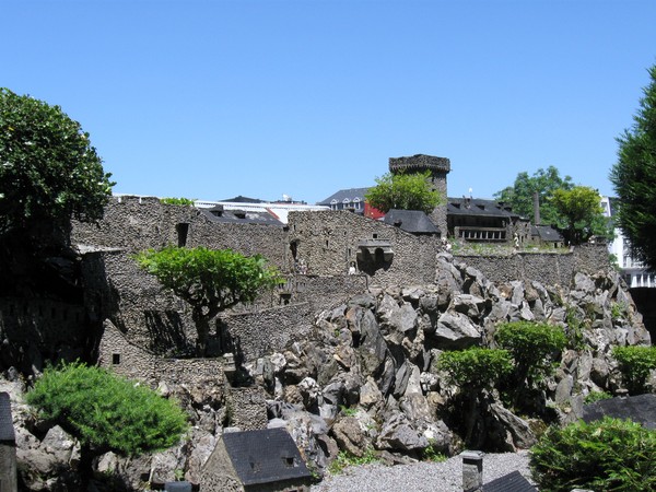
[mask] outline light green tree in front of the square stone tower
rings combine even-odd
[[[440,192],[431,187],[431,173],[387,173],[376,178],[376,186],[368,189],[366,202],[387,213],[393,209],[421,210],[431,213],[440,203]]]

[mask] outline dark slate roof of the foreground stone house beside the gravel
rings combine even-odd
[[[292,436],[284,429],[229,432],[223,442],[244,485],[311,477]]]

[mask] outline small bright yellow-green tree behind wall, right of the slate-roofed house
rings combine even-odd
[[[551,203],[561,216],[570,244],[582,244],[591,236],[612,237],[612,231],[601,209],[599,191],[587,186],[557,189]]]

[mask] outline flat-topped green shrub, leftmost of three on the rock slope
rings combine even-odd
[[[475,347],[440,354],[437,371],[444,371],[449,383],[461,391],[493,387],[513,370],[511,354],[505,350]]]

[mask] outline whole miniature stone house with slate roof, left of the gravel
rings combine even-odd
[[[201,492],[308,491],[312,476],[284,429],[229,432],[208,458]]]

